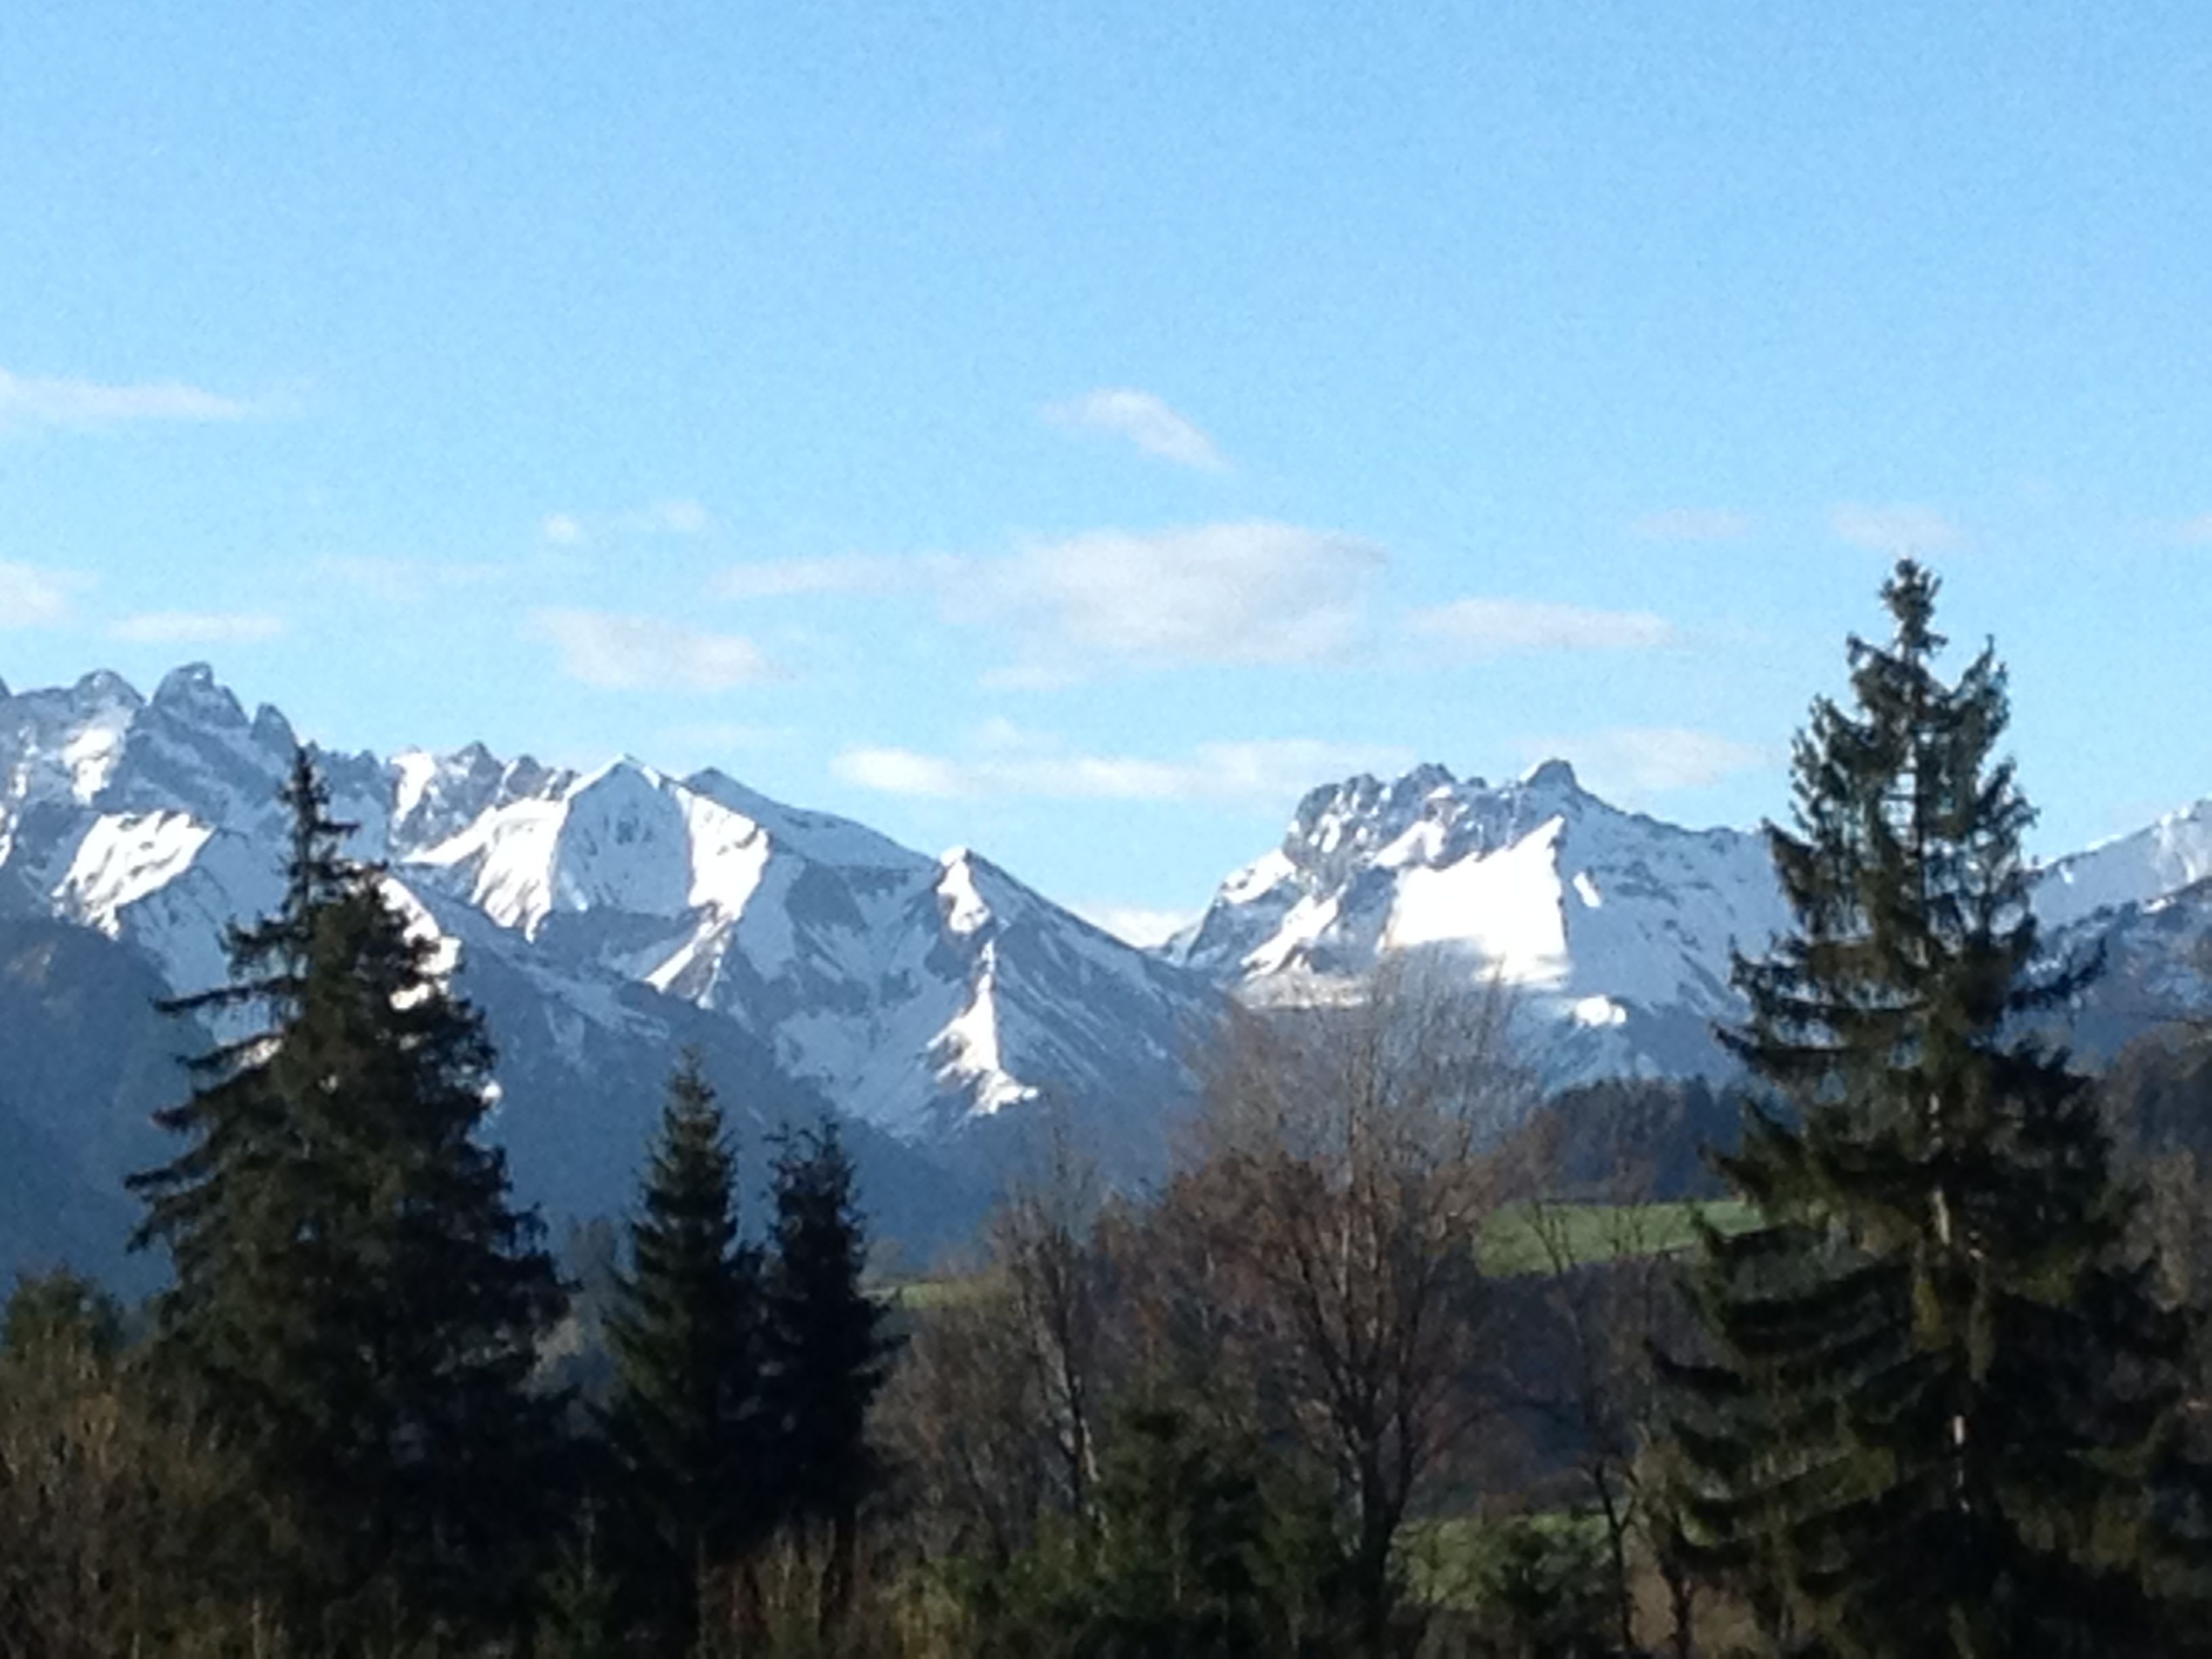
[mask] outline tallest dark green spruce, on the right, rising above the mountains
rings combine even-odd
[[[1785,1652],[2168,1652],[2188,1325],[2035,1035],[2079,975],[2037,969],[2006,675],[1938,675],[1936,588],[1896,566],[1770,832],[1796,927],[1730,1044],[1785,1110],[1721,1161],[1765,1225],[1705,1234],[1708,1354],[1666,1367],[1683,1524]]]

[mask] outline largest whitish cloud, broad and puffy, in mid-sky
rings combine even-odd
[[[1296,664],[1345,653],[1383,549],[1296,524],[1091,531],[980,560],[945,584],[956,622],[1013,624],[1024,670]]]

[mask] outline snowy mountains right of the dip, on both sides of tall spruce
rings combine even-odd
[[[2048,865],[2055,956],[2104,951],[2088,1055],[2212,1004],[2212,801]],[[1343,995],[1391,956],[1495,975],[1553,1086],[1721,1077],[1714,1022],[1743,1015],[1734,951],[1790,925],[1763,834],[1681,830],[1586,792],[1562,761],[1509,783],[1422,765],[1298,803],[1281,847],[1232,874],[1161,953],[1245,1002]]]

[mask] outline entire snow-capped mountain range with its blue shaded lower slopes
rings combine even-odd
[[[164,1155],[148,1115],[206,1033],[155,1004],[215,984],[226,927],[274,905],[292,748],[206,666],[150,697],[106,672],[0,688],[0,1272],[159,1272],[122,1254],[122,1177]],[[836,1110],[878,1230],[927,1256],[1044,1124],[1117,1179],[1155,1175],[1228,998],[1298,1018],[1436,953],[1513,989],[1551,1084],[1719,1075],[1730,951],[1781,922],[1756,832],[1621,812],[1559,761],[1316,787],[1159,951],[975,852],[931,858],[712,770],[480,745],[316,761],[352,852],[484,1011],[495,1130],[555,1228],[624,1212],[686,1044],[754,1179],[779,1124]],[[2106,953],[2077,1026],[2093,1055],[2205,1006],[2212,803],[2055,860],[2037,905],[2053,949]]]

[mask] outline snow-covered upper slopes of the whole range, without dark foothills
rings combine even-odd
[[[290,745],[281,714],[248,719],[199,668],[153,703],[102,675],[0,692],[0,902],[122,938],[177,991],[219,982],[223,927],[276,900]],[[577,776],[482,745],[323,763],[363,825],[354,849],[389,860],[440,964],[465,942],[509,993],[542,998],[542,1018],[522,1004],[542,1053],[582,1064],[668,998],[909,1139],[1037,1095],[1168,1097],[1221,991],[1356,998],[1407,951],[1502,978],[1566,1055],[1555,1082],[1701,1066],[1710,1022],[1736,1013],[1732,949],[1756,953],[1783,922],[1761,836],[1621,812],[1562,763],[1500,785],[1425,765],[1314,790],[1157,953],[978,854],[929,858],[721,772],[624,759]],[[2148,982],[2157,900],[2208,878],[2212,801],[2057,860],[2037,905],[2053,922],[2139,905]]]

